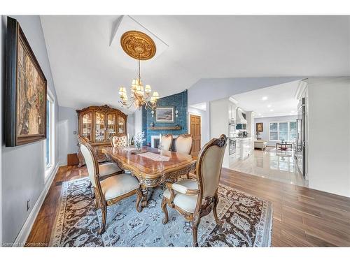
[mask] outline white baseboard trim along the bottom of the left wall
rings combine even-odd
[[[59,166],[60,166],[59,163],[57,163],[55,166],[55,169],[52,170],[52,173],[47,178],[45,186],[43,188],[43,191],[41,191],[41,194],[38,197],[38,200],[36,201],[33,209],[29,213],[29,216],[27,217],[25,224],[23,224],[23,226],[20,230],[20,233],[18,233],[17,238],[15,239],[15,242],[13,242],[13,245],[15,245],[16,247],[24,247],[25,246],[25,242],[27,241],[27,238],[29,237],[29,233],[30,233],[31,228],[34,224],[36,216],[38,215],[38,212],[40,211],[41,205],[43,205],[43,201],[45,200],[46,194],[48,194],[48,189],[50,189],[50,186],[52,184],[53,179],[55,178],[55,175],[57,174],[57,170],[58,170]]]

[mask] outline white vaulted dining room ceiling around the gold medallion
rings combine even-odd
[[[116,16],[41,16],[58,103],[118,104],[137,75],[111,43]],[[160,96],[201,78],[349,75],[346,16],[132,16],[169,47],[141,62]],[[118,41],[116,41],[117,43]],[[130,58],[131,59],[131,58]],[[128,61],[130,62],[130,61]]]

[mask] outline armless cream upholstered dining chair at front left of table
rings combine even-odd
[[[136,210],[137,212],[141,212],[142,208],[140,202],[142,192],[139,181],[132,175],[123,173],[100,181],[99,164],[92,152],[92,147],[86,142],[86,140],[80,140],[80,143],[80,151],[85,159],[87,172],[89,173],[94,188],[96,206],[102,211],[102,226],[99,230],[99,234],[102,234],[106,231],[107,206],[113,205],[128,196],[137,194]]]

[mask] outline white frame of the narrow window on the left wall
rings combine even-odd
[[[55,168],[55,99],[50,90],[48,89],[47,95],[46,95],[46,103],[49,101],[49,108],[46,108],[49,112],[49,124],[48,124],[48,133],[49,138],[46,138],[44,141],[44,170],[45,170],[45,181],[50,177],[52,171]],[[47,144],[49,139],[49,158],[50,161],[48,164],[46,164],[46,150],[47,150]]]

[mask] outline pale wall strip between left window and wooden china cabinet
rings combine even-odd
[[[59,163],[65,166],[67,154],[78,152],[78,116],[74,108],[59,106],[58,136]]]

